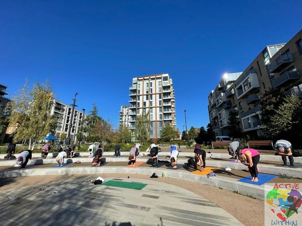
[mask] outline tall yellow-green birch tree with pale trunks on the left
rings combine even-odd
[[[9,124],[18,128],[14,133],[13,141],[18,143],[30,140],[29,149],[34,149],[35,144],[42,140],[51,128],[57,124],[57,117],[50,114],[54,105],[53,88],[49,84],[36,82],[29,91],[27,80],[22,89],[18,89],[16,96],[9,103],[11,115]],[[33,141],[31,147],[31,141]]]

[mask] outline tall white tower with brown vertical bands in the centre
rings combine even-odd
[[[175,91],[169,74],[133,78],[129,89],[128,122],[132,133],[137,115],[147,112],[151,121],[150,139],[160,138],[162,128],[167,123],[176,129]]]

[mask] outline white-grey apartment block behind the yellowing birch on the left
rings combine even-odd
[[[67,136],[70,120],[72,120],[72,128],[70,130],[71,142],[76,142],[76,134],[81,130],[81,122],[83,118],[87,117],[87,114],[83,115],[82,111],[74,110],[73,116],[71,116],[72,107],[64,104],[58,100],[55,100],[55,104],[51,109],[51,114],[58,117],[58,125],[54,136],[60,137],[61,133],[65,133]]]

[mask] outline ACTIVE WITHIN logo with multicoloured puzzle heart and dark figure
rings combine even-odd
[[[300,187],[297,183],[265,184],[265,226],[302,226]]]

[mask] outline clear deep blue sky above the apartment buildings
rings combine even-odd
[[[207,96],[301,27],[301,1],[0,2],[0,83],[47,77],[58,99],[118,123],[132,78],[169,73],[177,126],[209,122]]]

